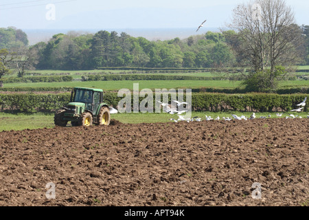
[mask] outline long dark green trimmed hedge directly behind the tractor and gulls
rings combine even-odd
[[[290,111],[304,100],[306,94],[209,94],[193,93],[194,111]],[[55,111],[69,103],[70,94],[0,94],[0,110],[34,113],[36,111]],[[122,97],[115,92],[104,94],[104,102],[117,107]],[[143,100],[140,98],[139,103]],[[155,95],[153,97],[155,107]],[[184,100],[186,100],[184,96]],[[133,97],[131,103],[133,104]],[[133,107],[133,106],[132,106]],[[304,108],[308,111],[308,107]]]

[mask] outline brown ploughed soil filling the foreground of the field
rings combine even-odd
[[[309,120],[0,133],[0,206],[303,206]],[[53,182],[55,199],[45,186]],[[253,199],[252,184],[262,186]]]

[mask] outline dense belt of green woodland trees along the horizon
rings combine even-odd
[[[309,65],[309,26],[302,28],[308,48],[306,57],[299,65]],[[10,30],[11,32],[12,30]],[[2,30],[4,32],[4,30]],[[17,30],[15,30],[17,36]],[[3,33],[2,33],[3,35]],[[27,41],[19,34],[19,42]],[[15,41],[17,37],[15,36]],[[1,38],[1,32],[0,32]],[[14,40],[14,37],[11,38]],[[21,41],[23,40],[23,41]],[[56,34],[47,43],[40,42],[29,47],[23,56],[23,64],[36,69],[82,70],[101,67],[135,68],[214,68],[233,67],[238,55],[231,50],[240,44],[238,34],[232,30],[207,32],[187,39],[148,41],[144,37],[133,37],[124,32],[99,31],[95,34]],[[17,51],[8,42],[1,47]]]

